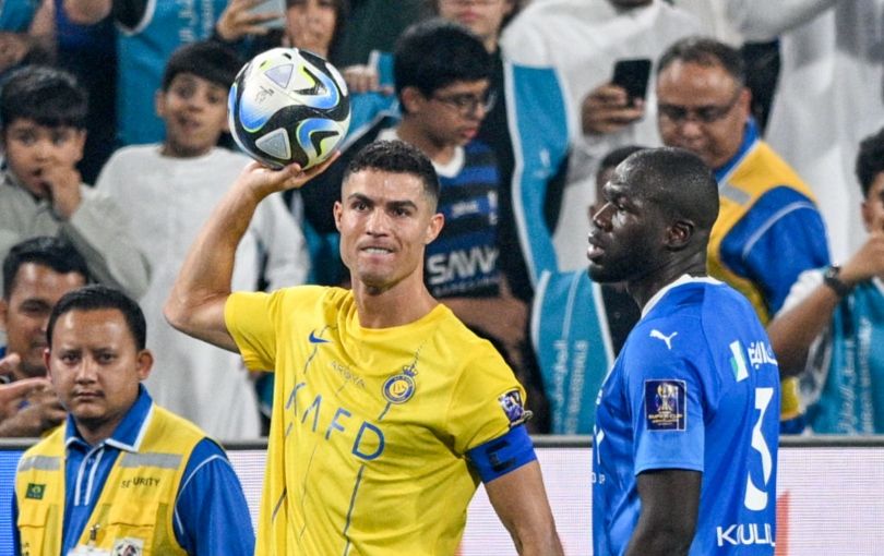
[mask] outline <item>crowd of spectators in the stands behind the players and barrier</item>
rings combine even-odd
[[[21,383],[0,386],[0,433],[60,421],[35,353],[51,304],[87,280],[140,301],[160,406],[218,438],[266,433],[272,384],[174,330],[162,305],[248,162],[227,133],[227,89],[273,46],[342,70],[350,148],[401,138],[433,161],[447,228],[428,250],[430,290],[504,354],[534,432],[592,431],[595,394],[641,315],[586,276],[587,211],[616,203],[600,185],[636,145],[667,145],[718,181],[709,273],[769,323],[784,431],[884,433],[884,0],[259,3],[0,3],[0,373]],[[775,92],[756,85],[777,68],[758,70],[758,44],[779,55]],[[626,59],[652,64],[637,101],[612,81]],[[234,288],[344,283],[337,191],[262,203]],[[70,250],[69,265],[56,261]]]

